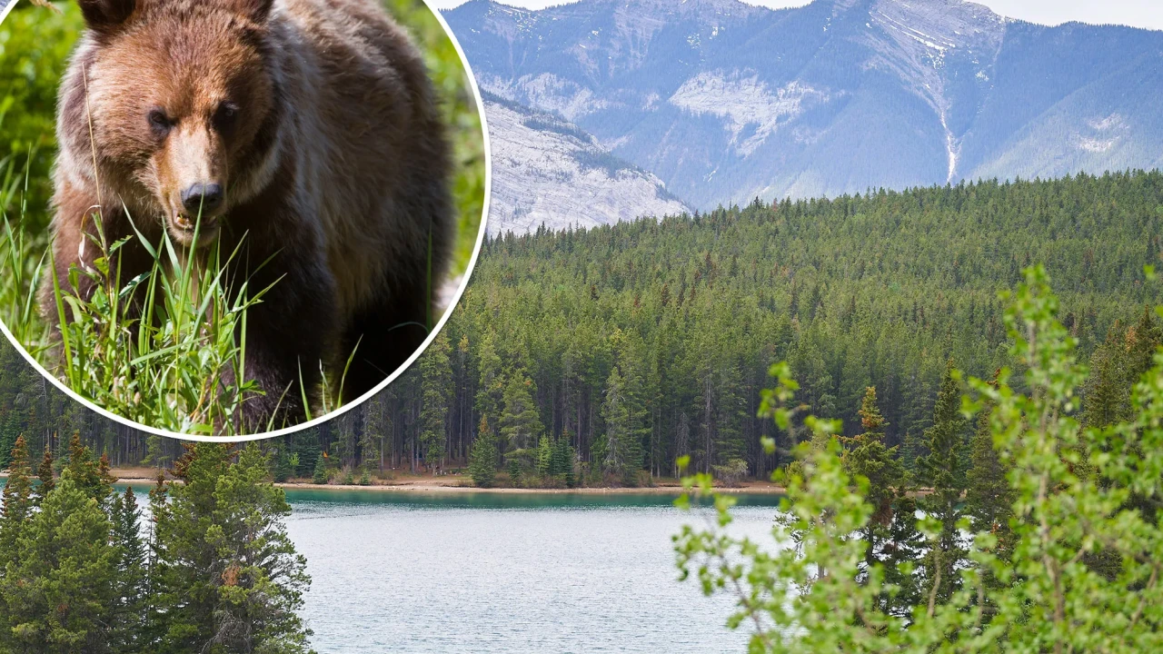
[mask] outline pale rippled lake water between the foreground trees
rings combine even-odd
[[[745,652],[728,598],[679,584],[683,513],[657,495],[294,489],[288,527],[313,577],[320,654]],[[773,496],[733,528],[763,538]]]

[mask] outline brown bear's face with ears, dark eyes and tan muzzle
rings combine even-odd
[[[272,111],[270,1],[79,1],[98,42],[86,71],[98,158],[176,242],[211,242]]]

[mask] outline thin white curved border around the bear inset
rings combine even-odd
[[[5,0],[0,0],[0,2],[2,1]],[[15,8],[16,2],[19,1],[20,0],[8,0],[8,6],[5,7],[3,9],[0,9],[0,22],[3,22],[3,20],[8,17],[8,14],[13,10],[13,8]],[[472,258],[469,260],[469,268],[466,268],[464,271],[464,280],[461,282],[461,287],[456,291],[456,294],[452,297],[452,303],[448,305],[448,308],[444,311],[444,315],[442,315],[440,321],[436,322],[436,327],[428,334],[428,337],[424,340],[423,343],[421,343],[420,348],[418,348],[416,351],[413,353],[412,356],[408,357],[408,360],[405,361],[402,365],[397,368],[394,372],[388,375],[386,379],[384,379],[368,393],[328,413],[327,415],[321,415],[319,418],[315,418],[314,420],[309,420],[301,425],[295,425],[294,427],[287,427],[285,429],[276,429],[273,432],[264,432],[262,434],[252,434],[247,436],[198,436],[191,434],[178,434],[174,432],[166,432],[164,429],[156,429],[154,427],[149,427],[147,425],[128,420],[126,418],[122,418],[121,415],[117,415],[105,408],[101,408],[100,406],[97,406],[88,399],[85,399],[81,396],[73,392],[72,389],[65,385],[65,383],[58,379],[55,375],[49,374],[49,371],[45,370],[44,367],[40,364],[40,362],[37,362],[35,358],[33,358],[30,354],[28,354],[28,351],[24,349],[24,346],[21,344],[15,336],[13,336],[12,332],[8,330],[8,327],[2,321],[0,321],[0,330],[3,332],[3,335],[16,348],[16,351],[19,351],[28,361],[28,363],[36,369],[37,372],[40,372],[50,382],[52,382],[52,385],[63,391],[66,396],[69,396],[73,400],[80,403],[83,406],[85,406],[85,408],[88,408],[90,411],[93,411],[105,418],[108,418],[109,420],[137,429],[138,432],[145,432],[147,434],[155,434],[169,439],[178,439],[184,441],[197,441],[197,442],[222,442],[222,443],[249,442],[249,441],[261,441],[266,439],[276,439],[279,436],[294,434],[297,432],[302,432],[305,429],[316,427],[329,420],[340,418],[348,411],[351,411],[352,408],[371,399],[372,396],[379,394],[384,389],[387,388],[388,384],[391,384],[392,382],[398,379],[401,375],[404,375],[404,372],[406,372],[408,368],[412,368],[412,364],[415,363],[418,358],[420,358],[420,355],[422,355],[424,350],[428,349],[428,346],[430,346],[433,341],[436,340],[436,336],[440,335],[441,330],[444,329],[444,325],[448,324],[449,318],[451,318],[452,315],[452,311],[455,311],[457,305],[461,303],[461,298],[464,296],[464,291],[468,289],[469,282],[472,279],[472,271],[476,270],[477,258],[480,256],[480,246],[481,243],[484,243],[485,234],[487,233],[488,229],[488,206],[492,200],[492,182],[493,182],[493,157],[492,157],[492,144],[488,140],[488,121],[485,118],[485,102],[484,99],[480,97],[480,87],[477,85],[477,77],[472,73],[472,66],[469,64],[469,58],[464,55],[464,49],[461,48],[461,42],[457,41],[456,34],[452,33],[452,29],[448,27],[448,22],[444,20],[444,16],[440,13],[440,10],[433,7],[429,0],[423,0],[423,3],[426,7],[428,7],[428,10],[431,12],[434,16],[436,16],[436,20],[444,29],[444,34],[447,34],[449,40],[452,41],[452,47],[456,48],[456,54],[459,55],[461,64],[464,66],[464,72],[468,74],[469,85],[472,87],[472,95],[477,102],[477,112],[480,114],[480,131],[485,140],[485,201],[484,206],[481,207],[480,233],[477,234],[477,244],[472,250]]]

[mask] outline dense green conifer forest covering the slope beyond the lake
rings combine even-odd
[[[421,436],[434,422],[422,390],[438,368],[451,381],[438,399],[443,450],[456,462],[486,417],[506,468],[543,433],[568,435],[594,481],[672,475],[682,455],[701,471],[743,461],[766,475],[808,438],[798,424],[778,429],[755,417],[768,367],[786,360],[800,399],[842,418],[846,435],[857,433],[875,386],[884,442],[915,471],[926,443],[948,435],[929,429],[950,360],[982,378],[1020,365],[997,293],[1022,266],[1048,262],[1063,322],[1089,355],[1158,299],[1141,271],[1160,258],[1160,234],[1163,175],[1149,172],[875,191],[491,239],[445,329],[447,364],[442,355],[414,367],[314,440],[340,454],[336,465],[356,467],[365,426],[376,425],[384,465],[423,469]],[[763,436],[776,439],[775,453]]]

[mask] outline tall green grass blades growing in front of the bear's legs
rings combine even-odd
[[[17,189],[7,183],[2,192]],[[8,204],[10,198],[0,197],[0,206]],[[27,211],[24,201],[20,206]],[[60,279],[51,249],[24,233],[23,218],[2,216],[0,271],[7,283],[0,320],[26,349],[74,392],[117,415],[180,434],[236,435],[242,403],[263,390],[236,383],[233,371],[245,370],[247,313],[270,290],[251,289],[247,280],[231,287],[224,271],[238,250],[223,251],[215,242],[199,256],[185,256],[164,230],[157,242],[140,232],[109,242],[94,214],[97,234],[88,247],[101,256],[93,268],[74,265]],[[116,254],[133,241],[150,254],[152,266],[127,279]],[[94,284],[90,298],[70,292],[83,277]],[[47,317],[37,306],[42,283],[55,310]],[[57,324],[59,330],[52,328]]]

